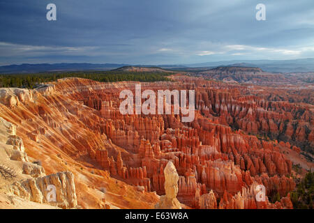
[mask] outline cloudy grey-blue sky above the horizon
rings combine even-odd
[[[1,0],[0,27],[0,66],[314,57],[313,0]]]

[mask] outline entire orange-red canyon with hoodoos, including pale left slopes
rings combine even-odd
[[[170,160],[181,208],[293,208],[290,192],[314,167],[314,85],[239,68],[169,78],[0,89],[0,208],[155,208]],[[136,84],[194,90],[194,120],[122,115],[119,94]]]

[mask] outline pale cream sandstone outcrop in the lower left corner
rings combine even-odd
[[[22,139],[16,135],[16,126],[3,118],[0,118],[0,141],[2,144],[6,143],[0,151],[1,167],[10,169],[13,173],[10,178],[1,173],[0,178],[4,178],[5,181],[0,179],[0,186],[4,183],[0,194],[3,191],[7,196],[17,196],[36,203],[48,203],[60,208],[75,208],[77,206],[73,174],[66,171],[45,176],[43,167],[26,162],[29,157],[24,152]],[[22,168],[19,169],[21,166]],[[18,180],[18,178],[22,179]],[[13,181],[13,183],[6,185],[6,183],[10,183],[8,180]],[[50,187],[53,187],[52,196],[54,199],[52,201],[48,196]],[[26,202],[24,201],[24,203]]]

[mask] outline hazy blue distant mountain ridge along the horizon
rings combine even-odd
[[[294,60],[233,60],[208,63],[131,65],[124,63],[23,63],[20,65],[0,66],[0,73],[58,72],[78,70],[114,70],[122,67],[157,68],[165,70],[185,70],[199,72],[217,67],[251,67],[265,72],[314,72],[314,59]],[[134,69],[133,69],[134,70]],[[145,70],[145,69],[142,69]]]

